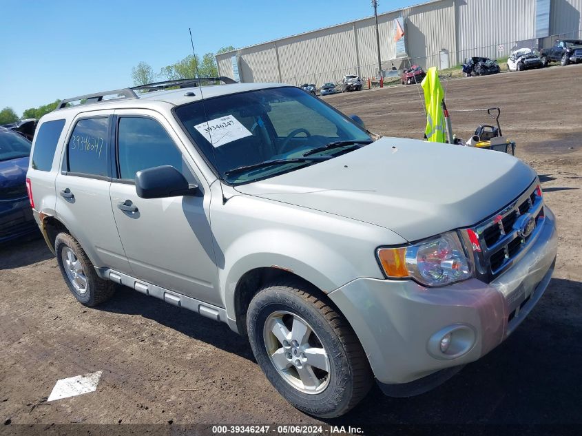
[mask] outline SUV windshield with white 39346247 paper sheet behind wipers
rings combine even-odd
[[[204,104],[204,106],[202,105]],[[177,107],[176,116],[220,177],[236,185],[293,171],[321,160],[249,168],[269,160],[302,158],[311,150],[346,141],[312,156],[337,156],[370,141],[362,127],[296,87],[241,92]],[[207,114],[207,118],[205,116]],[[360,144],[362,145],[362,144]]]

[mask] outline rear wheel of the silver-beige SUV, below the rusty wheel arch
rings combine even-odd
[[[69,233],[56,235],[54,252],[65,283],[81,304],[93,307],[112,298],[116,285],[97,276],[87,253]]]

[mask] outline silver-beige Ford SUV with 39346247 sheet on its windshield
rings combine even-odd
[[[521,160],[381,138],[298,87],[194,85],[40,120],[30,203],[82,304],[123,284],[226,322],[293,406],[335,417],[374,380],[443,382],[541,298],[555,219]]]

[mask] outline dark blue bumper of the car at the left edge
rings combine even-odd
[[[28,197],[0,200],[0,243],[37,231]]]

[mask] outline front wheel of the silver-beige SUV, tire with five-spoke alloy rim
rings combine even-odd
[[[323,298],[320,291],[299,280],[268,284],[251,300],[247,328],[256,360],[277,391],[300,411],[332,418],[366,396],[373,375],[353,329]],[[308,333],[301,335],[302,331]],[[304,353],[307,350],[311,353]],[[319,366],[309,364],[309,355],[319,357]]]

